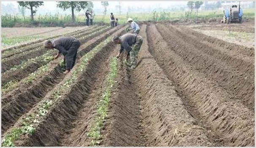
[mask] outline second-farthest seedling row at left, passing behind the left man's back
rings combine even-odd
[[[101,26],[101,27],[97,27],[95,29],[92,29],[92,30],[88,30],[86,32],[76,32],[76,33],[72,33],[72,34],[68,34],[68,36],[74,36],[75,38],[79,38],[83,35],[87,35],[87,34],[91,34],[93,32],[96,32],[97,30],[101,30],[102,28],[106,28],[105,26]],[[59,36],[55,36],[53,38],[58,38]],[[52,38],[49,38],[49,39],[52,39]],[[10,57],[14,54],[19,54],[19,53],[23,53],[25,54],[25,51],[30,51],[30,50],[38,50],[38,48],[44,48],[42,47],[43,46],[43,43],[36,43],[34,45],[32,45],[31,47],[26,47],[26,48],[19,48],[19,49],[15,49],[15,50],[11,50],[11,51],[5,51],[2,56],[3,58],[7,58],[7,57]]]

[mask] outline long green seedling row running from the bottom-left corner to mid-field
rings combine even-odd
[[[10,133],[7,133],[2,140],[2,146],[15,146],[15,140],[19,138],[20,135],[33,135],[36,132],[36,124],[40,123],[40,120],[43,116],[48,113],[50,107],[67,91],[67,88],[70,88],[71,85],[74,85],[77,82],[78,75],[87,69],[87,62],[94,57],[94,55],[101,50],[103,46],[111,41],[111,37],[107,38],[101,42],[98,46],[93,48],[92,51],[82,57],[79,61],[79,66],[72,70],[71,75],[64,79],[62,85],[58,86],[57,89],[52,91],[51,99],[46,99],[39,105],[39,108],[34,112],[26,116],[22,120],[22,124],[19,127],[13,128]],[[48,68],[49,69],[49,68]],[[47,70],[47,69],[45,69]],[[27,79],[29,81],[31,79]]]

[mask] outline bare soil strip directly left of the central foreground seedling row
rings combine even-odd
[[[80,107],[76,119],[72,121],[70,128],[61,137],[58,146],[89,146],[90,138],[87,137],[87,133],[95,119],[97,102],[101,99],[103,91],[105,91],[105,80],[110,70],[110,60],[116,55],[116,51],[114,46],[110,47],[104,57],[97,61],[98,67],[93,69],[95,74],[90,78],[91,86],[87,88],[87,96],[84,96],[86,101]]]

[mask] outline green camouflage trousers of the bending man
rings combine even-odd
[[[133,45],[132,50],[130,51],[131,68],[135,68],[137,66],[138,54],[142,43],[142,37],[140,35],[137,35],[136,43]]]

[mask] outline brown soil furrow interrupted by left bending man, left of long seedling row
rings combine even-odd
[[[78,51],[77,58],[80,59],[83,54],[89,52],[91,49],[97,46],[98,43],[103,41],[107,36],[115,32],[117,29],[118,28],[109,30],[103,35],[88,41],[87,46],[82,45]],[[61,69],[61,66],[58,65],[60,60],[61,59],[52,61],[48,75],[38,78],[37,80],[33,81],[33,83],[20,83],[18,88],[3,96],[1,111],[2,117],[6,113],[11,114],[12,116],[5,116],[5,118],[2,118],[2,133],[12,126],[22,114],[29,111],[34,104],[40,101],[41,98],[44,97],[49,90],[51,90],[51,86],[55,86],[57,83],[60,83],[61,79],[63,78],[63,70]],[[8,98],[12,98],[12,100],[9,100]]]

